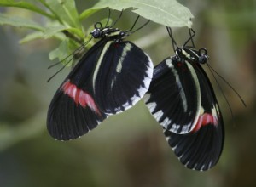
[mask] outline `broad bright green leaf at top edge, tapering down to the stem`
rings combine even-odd
[[[70,27],[81,28],[79,14],[74,0],[41,0],[44,1],[48,8],[58,17],[63,24]]]

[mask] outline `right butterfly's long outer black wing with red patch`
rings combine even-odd
[[[224,145],[224,123],[218,101],[207,74],[192,64],[200,82],[201,110],[193,130],[176,134],[164,129],[168,144],[178,159],[190,169],[204,171],[216,165]]]

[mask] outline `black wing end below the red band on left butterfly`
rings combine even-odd
[[[59,140],[76,139],[88,133],[107,116],[82,106],[73,101],[67,94],[59,92],[48,111],[48,131]]]

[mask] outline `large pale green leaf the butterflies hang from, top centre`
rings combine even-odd
[[[91,9],[112,8],[121,11],[133,8],[135,12],[146,19],[164,26],[191,27],[190,18],[194,16],[188,8],[176,0],[100,0]]]

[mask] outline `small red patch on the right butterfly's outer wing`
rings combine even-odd
[[[192,133],[198,131],[202,126],[213,124],[218,125],[218,118],[209,113],[203,113],[198,117],[198,121],[195,124],[195,127],[192,130]]]

